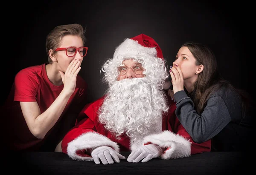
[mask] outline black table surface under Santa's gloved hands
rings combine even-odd
[[[128,158],[130,152],[121,152]],[[20,152],[9,155],[6,163],[8,174],[35,175],[229,175],[247,174],[250,165],[247,152],[204,152],[187,158],[152,159],[146,163],[95,164],[94,161],[75,161],[62,152]],[[3,172],[4,169],[2,170]]]

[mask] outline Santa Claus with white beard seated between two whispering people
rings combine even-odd
[[[198,144],[175,116],[168,99],[168,73],[162,51],[145,34],[125,39],[102,67],[109,88],[80,112],[64,137],[62,151],[74,160],[96,164],[152,158],[175,159],[209,152],[211,141]],[[168,86],[167,86],[168,88]]]

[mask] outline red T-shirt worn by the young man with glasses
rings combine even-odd
[[[5,146],[15,151],[54,151],[56,144],[75,124],[76,117],[85,105],[87,84],[77,76],[76,89],[67,102],[60,118],[43,139],[38,139],[29,131],[23,117],[20,101],[38,103],[43,113],[61,93],[64,85],[55,86],[47,77],[46,66],[31,66],[20,70],[15,76],[11,92],[3,106]]]

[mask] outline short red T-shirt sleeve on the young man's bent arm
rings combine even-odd
[[[21,70],[15,76],[15,101],[32,102],[36,101],[38,92],[38,79],[35,75]]]

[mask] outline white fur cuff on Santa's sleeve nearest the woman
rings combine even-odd
[[[154,143],[166,149],[160,157],[162,159],[176,159],[189,157],[191,155],[191,142],[182,136],[170,131],[163,131],[161,134],[148,135],[143,140],[145,143]]]

